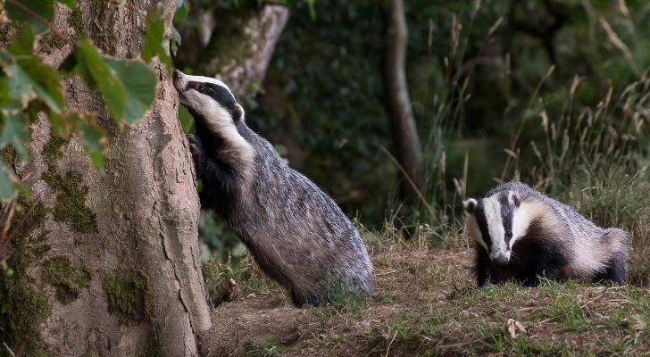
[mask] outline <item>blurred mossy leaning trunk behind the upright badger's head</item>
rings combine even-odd
[[[288,16],[278,4],[209,13],[201,17],[201,30],[181,29],[183,45],[174,61],[223,80],[235,95],[254,94]]]

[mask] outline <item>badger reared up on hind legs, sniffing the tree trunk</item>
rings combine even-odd
[[[296,305],[331,289],[371,291],[372,264],[337,204],[283,162],[246,126],[244,109],[220,80],[173,72],[180,103],[195,120],[189,135],[203,208],[223,218]]]

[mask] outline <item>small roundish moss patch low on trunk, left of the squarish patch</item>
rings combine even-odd
[[[85,267],[73,266],[67,257],[57,256],[43,263],[43,281],[54,286],[61,303],[71,303],[88,286],[90,273]]]

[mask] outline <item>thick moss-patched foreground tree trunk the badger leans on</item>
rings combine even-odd
[[[162,10],[169,32],[177,4],[78,2],[73,12],[56,5],[54,25],[71,37],[87,31],[104,54],[118,58],[140,56],[147,12]],[[56,65],[69,47],[41,44],[37,52]],[[104,129],[104,173],[77,138],[52,137],[45,118],[31,128],[29,163],[18,173],[32,203],[29,220],[17,225],[22,237],[12,242],[16,271],[3,306],[12,330],[0,331],[13,334],[3,339],[14,353],[197,355],[196,334],[210,327],[210,317],[196,179],[176,91],[165,67],[152,67],[159,78],[154,104],[124,128],[83,81],[64,80],[67,110],[95,113]]]

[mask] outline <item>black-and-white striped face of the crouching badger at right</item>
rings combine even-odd
[[[470,198],[462,204],[469,213],[465,220],[467,234],[485,248],[492,262],[509,262],[512,245],[521,237],[519,232],[512,235],[513,222],[517,225],[519,195],[502,192],[486,198]]]

